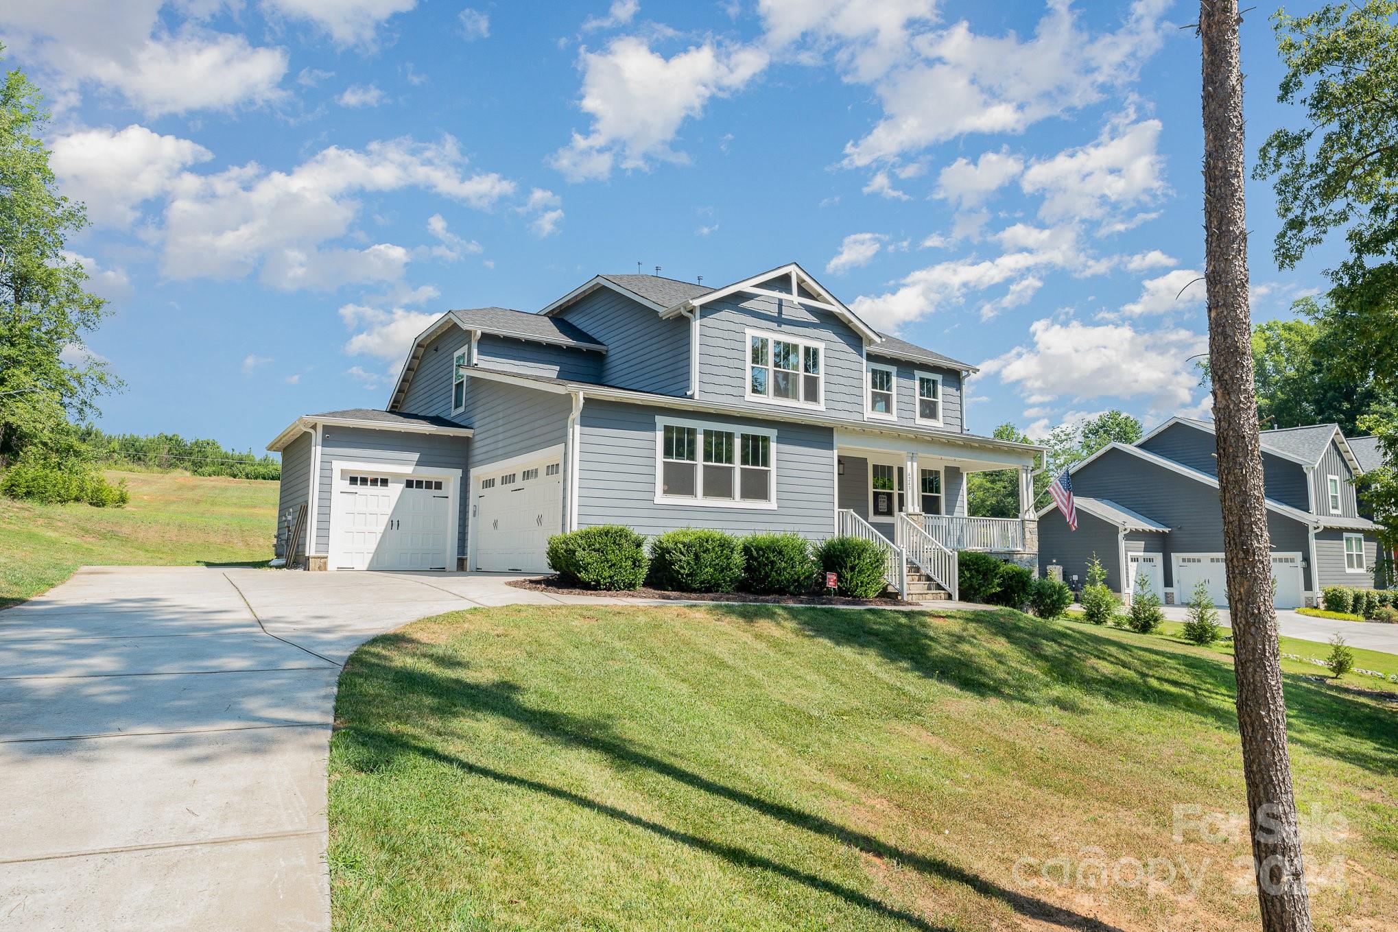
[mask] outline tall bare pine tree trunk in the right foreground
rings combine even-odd
[[[1271,542],[1253,384],[1237,25],[1237,0],[1201,0],[1204,250],[1223,558],[1262,929],[1310,932],[1310,901],[1286,750],[1286,703],[1272,606]]]

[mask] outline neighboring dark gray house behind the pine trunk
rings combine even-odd
[[[1078,530],[1053,507],[1039,513],[1039,560],[1081,585],[1093,555],[1127,598],[1139,576],[1183,604],[1202,581],[1226,605],[1223,517],[1213,425],[1170,418],[1134,446],[1113,443],[1072,467]],[[1327,585],[1376,584],[1376,525],[1360,514],[1363,472],[1332,423],[1262,432],[1267,525],[1278,608],[1316,605]]]

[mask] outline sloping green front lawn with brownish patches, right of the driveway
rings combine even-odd
[[[1246,833],[1172,837],[1177,805],[1244,810],[1230,664],[1004,611],[425,619],[340,680],[334,926],[1251,929]],[[1307,843],[1317,928],[1384,928],[1398,708],[1286,696],[1299,802],[1348,820]]]

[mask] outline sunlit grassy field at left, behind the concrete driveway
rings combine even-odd
[[[246,563],[271,559],[275,482],[108,472],[122,509],[0,499],[0,608],[57,585],[80,566]]]

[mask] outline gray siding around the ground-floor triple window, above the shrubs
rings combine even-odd
[[[835,435],[829,428],[752,418],[696,418],[741,429],[776,428],[777,507],[656,503],[656,408],[589,401],[582,414],[579,527],[625,524],[639,534],[707,527],[733,534],[790,531],[811,539],[835,528]]]

